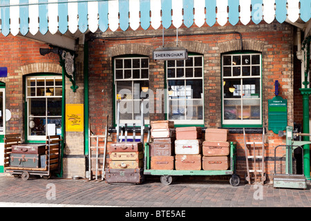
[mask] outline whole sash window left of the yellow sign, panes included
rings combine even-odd
[[[26,78],[28,140],[62,134],[62,77]]]

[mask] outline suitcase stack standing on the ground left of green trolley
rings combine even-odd
[[[109,146],[108,183],[140,184],[144,180],[142,142],[120,142]]]

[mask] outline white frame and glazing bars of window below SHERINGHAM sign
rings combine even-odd
[[[175,63],[175,74],[176,76],[175,77],[169,77],[169,65],[168,65],[168,62],[171,62],[171,61],[166,61],[166,84],[167,84],[167,97],[166,97],[166,105],[167,105],[167,119],[170,120],[170,121],[173,121],[174,124],[194,124],[194,125],[198,125],[198,124],[204,124],[204,56],[203,55],[188,55],[188,58],[189,57],[193,57],[195,59],[195,57],[201,57],[202,59],[202,64],[200,64],[200,66],[195,66],[194,64],[194,59],[193,59],[193,66],[186,66],[185,65],[185,60],[184,60],[184,66],[183,67],[178,67]],[[175,61],[176,62],[176,61]],[[176,69],[177,68],[184,68],[184,76],[183,77],[177,77],[177,72],[176,72]],[[193,68],[193,77],[186,77],[186,68]],[[201,77],[194,77],[194,68],[202,68],[202,76]],[[202,81],[202,94],[201,94],[201,98],[191,98],[189,97],[189,92],[186,88],[186,80],[192,80],[192,79],[199,79]],[[179,99],[170,99],[169,98],[169,80],[184,80],[185,81],[185,110],[187,111],[187,100],[192,100],[192,101],[202,101],[202,119],[186,119],[186,115],[187,113],[185,113],[185,119],[169,119],[169,110],[170,110],[170,106],[169,106],[169,102],[170,101],[175,101],[175,104],[178,104],[180,105],[180,103],[178,102]],[[175,93],[175,92],[173,92]],[[190,95],[191,95],[191,92],[190,92]]]

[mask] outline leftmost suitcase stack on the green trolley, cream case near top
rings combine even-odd
[[[151,138],[153,138],[153,142],[149,145],[151,169],[173,170],[173,149],[176,139],[174,122],[167,120],[152,121]]]

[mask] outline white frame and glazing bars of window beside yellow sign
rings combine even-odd
[[[28,80],[33,80],[33,79],[36,79],[36,82],[37,82],[37,79],[44,79],[44,86],[37,86],[37,83],[35,84],[35,86],[31,86],[31,85],[28,85]],[[54,85],[53,86],[47,86],[46,85],[46,79],[54,79]],[[48,115],[48,113],[46,112],[46,115],[42,115],[42,116],[30,116],[30,108],[31,108],[31,102],[30,102],[30,99],[35,99],[35,98],[45,98],[46,99],[46,111],[48,110],[48,102],[47,102],[47,99],[48,98],[62,98],[62,94],[61,95],[49,95],[47,96],[46,93],[44,95],[37,95],[37,88],[44,88],[44,91],[46,92],[46,90],[48,88],[51,88],[53,89],[53,91],[55,92],[56,89],[58,88],[62,88],[62,85],[59,85],[59,86],[56,86],[55,85],[55,79],[61,79],[62,80],[62,76],[59,76],[59,75],[48,75],[48,76],[28,76],[26,77],[26,101],[27,101],[27,131],[28,131],[28,134],[27,134],[27,140],[46,140],[46,135],[30,135],[30,127],[29,127],[29,123],[30,123],[30,120],[34,117],[45,117],[46,119],[46,122],[48,122],[48,118],[62,118],[62,115],[55,115],[55,116],[51,116],[51,115]],[[30,88],[35,88],[35,96],[34,95],[31,95],[31,93],[29,94],[29,91],[30,91]],[[28,90],[29,89],[29,90]],[[62,128],[63,130],[64,128]],[[47,128],[46,128],[46,132],[47,132]]]

